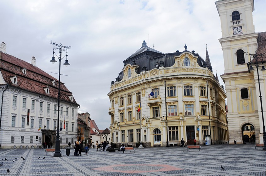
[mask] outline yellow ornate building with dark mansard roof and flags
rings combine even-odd
[[[163,54],[146,45],[128,57],[110,93],[111,141],[138,147],[228,142],[224,89],[195,51]],[[139,106],[141,104],[141,110]]]

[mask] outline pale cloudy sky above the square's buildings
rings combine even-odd
[[[194,50],[206,56],[214,74],[224,73],[221,24],[215,0],[0,0],[0,43],[6,53],[31,62],[56,79],[59,64],[49,62],[50,41],[71,46],[70,66],[61,66],[61,82],[73,93],[99,129],[110,126],[111,81],[143,40],[163,53]],[[255,0],[253,22],[264,32],[265,0]],[[58,52],[57,52],[58,54]],[[54,73],[52,73],[54,72]]]

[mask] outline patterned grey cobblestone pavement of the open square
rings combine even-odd
[[[189,152],[181,147],[153,147],[135,149],[135,153],[90,149],[88,155],[73,154],[71,149],[70,156],[66,156],[62,149],[62,157],[53,157],[53,152],[49,152],[43,159],[44,149],[0,149],[0,175],[266,176],[266,151],[262,147],[255,150],[254,144],[202,146],[202,151]]]

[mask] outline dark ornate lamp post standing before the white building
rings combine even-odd
[[[52,40],[50,41],[50,43],[52,45],[54,45],[54,50],[59,50],[59,56],[57,56],[53,50],[53,57],[52,60],[50,62],[52,62],[53,64],[55,62],[57,62],[54,59],[54,55],[57,56],[57,58],[59,59],[59,82],[58,82],[58,106],[57,106],[57,131],[56,131],[56,139],[55,139],[55,152],[54,152],[54,157],[61,157],[61,153],[60,153],[60,136],[59,136],[59,107],[60,107],[60,75],[61,75],[61,60],[66,57],[65,63],[63,65],[65,65],[66,67],[69,66],[70,64],[68,63],[67,60],[67,49],[70,49],[71,46],[63,46],[61,43],[60,44],[56,44],[55,42],[52,42]],[[66,55],[63,56],[62,58],[62,51],[66,52]]]

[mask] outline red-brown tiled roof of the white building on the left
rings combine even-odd
[[[23,68],[27,70],[26,74],[21,71]],[[3,53],[2,51],[0,51],[0,72],[5,83],[9,86],[31,93],[37,93],[45,97],[58,99],[59,81],[56,78],[28,62]],[[10,77],[13,76],[17,77],[17,84],[11,82]],[[52,83],[53,80],[55,81],[55,85]],[[49,88],[49,94],[45,92],[45,87]],[[62,82],[60,82],[60,93],[60,100],[78,105],[74,98],[73,101],[70,100],[69,96],[71,96],[72,93]]]

